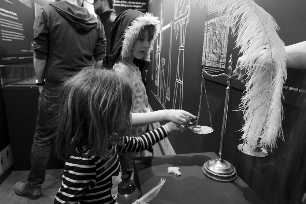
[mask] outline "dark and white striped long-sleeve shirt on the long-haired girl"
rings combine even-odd
[[[143,151],[166,136],[168,131],[161,126],[139,137],[124,137],[124,148],[118,147],[118,152]],[[54,203],[115,203],[121,175],[118,155],[106,160],[96,155],[71,156],[65,163]]]

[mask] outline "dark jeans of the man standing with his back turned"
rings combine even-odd
[[[58,89],[43,89],[39,95],[38,114],[31,152],[31,170],[28,183],[41,186],[45,181],[52,141],[55,136],[56,114],[59,109]]]

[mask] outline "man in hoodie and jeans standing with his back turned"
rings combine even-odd
[[[106,53],[103,25],[86,8],[78,6],[77,0],[43,6],[35,17],[33,30],[39,107],[28,182],[15,184],[15,192],[30,199],[41,196],[55,136],[61,82],[93,62],[101,65]]]

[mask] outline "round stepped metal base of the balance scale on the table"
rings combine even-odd
[[[202,166],[202,172],[208,178],[219,182],[230,182],[237,178],[235,167],[226,160],[208,160]]]

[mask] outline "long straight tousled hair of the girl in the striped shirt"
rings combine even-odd
[[[112,70],[86,67],[62,85],[56,153],[62,160],[72,155],[114,154],[131,128],[132,90]]]

